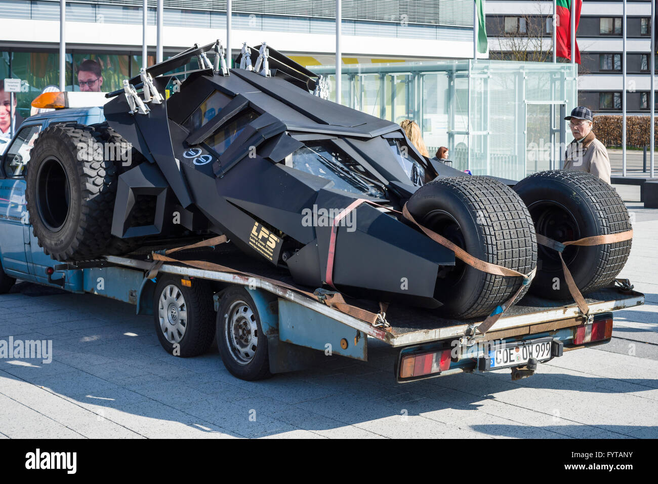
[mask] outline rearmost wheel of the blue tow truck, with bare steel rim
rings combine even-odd
[[[267,336],[249,292],[241,286],[228,288],[217,311],[217,346],[226,369],[243,380],[272,376]]]

